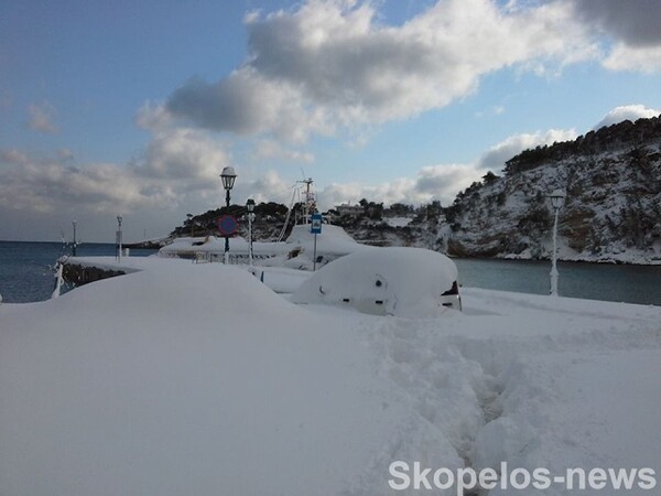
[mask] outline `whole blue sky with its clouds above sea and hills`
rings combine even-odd
[[[0,0],[0,239],[167,235],[297,200],[440,201],[661,114],[658,0]]]

